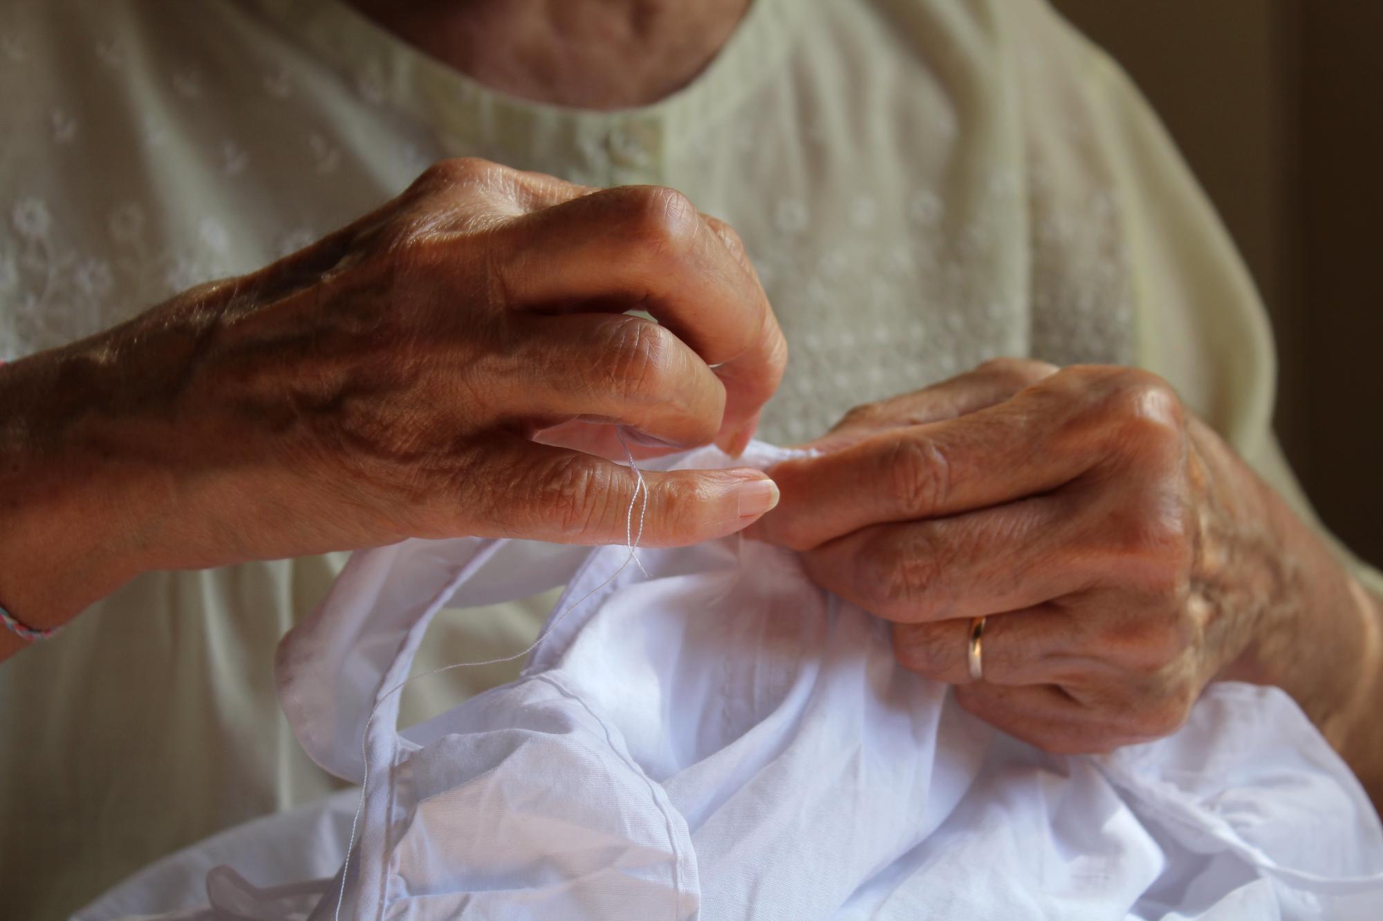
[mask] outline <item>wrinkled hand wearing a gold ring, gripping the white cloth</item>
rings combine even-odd
[[[1267,487],[1151,373],[994,361],[860,407],[808,447],[820,454],[770,470],[783,501],[751,534],[802,550],[820,585],[895,622],[903,665],[1019,738],[1155,738],[1217,676],[1332,705],[1285,654],[1312,566],[1329,564],[1293,559]],[[1317,599],[1358,644],[1358,599]],[[1335,649],[1340,628],[1318,617]]]

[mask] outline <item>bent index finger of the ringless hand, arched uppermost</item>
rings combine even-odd
[[[491,232],[491,268],[517,310],[647,311],[725,383],[722,447],[737,452],[777,389],[787,343],[748,260],[668,188],[603,189]]]

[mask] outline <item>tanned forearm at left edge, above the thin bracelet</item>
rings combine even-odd
[[[195,303],[0,368],[0,604],[25,624],[58,626],[176,561],[166,458],[180,382],[214,325]],[[25,644],[6,632],[0,657]]]

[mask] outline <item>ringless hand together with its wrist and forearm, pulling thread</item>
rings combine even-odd
[[[622,542],[611,423],[643,454],[737,452],[784,361],[737,236],[682,195],[444,162],[279,263],[0,369],[3,603],[47,625],[142,568],[415,535]],[[748,469],[644,478],[646,543],[777,495]]]

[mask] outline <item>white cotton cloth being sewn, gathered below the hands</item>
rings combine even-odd
[[[369,770],[340,917],[1383,913],[1379,820],[1275,689],[1214,685],[1169,738],[1048,755],[902,669],[887,624],[791,552],[732,537],[639,561],[481,539],[353,557],[278,657],[314,761]],[[520,680],[396,729],[390,691],[430,618],[564,581]],[[350,810],[337,795],[228,832],[79,917],[331,918],[340,878],[311,880],[340,859]],[[230,866],[207,870],[210,852]],[[210,907],[170,904],[195,873]]]

